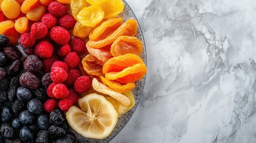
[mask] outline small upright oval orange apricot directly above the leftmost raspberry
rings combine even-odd
[[[20,17],[15,22],[15,29],[18,33],[25,33],[29,30],[29,19],[27,17]]]

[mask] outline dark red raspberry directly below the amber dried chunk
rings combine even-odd
[[[87,51],[86,45],[83,39],[81,38],[74,38],[70,41],[70,46],[74,52],[78,54],[85,53]]]

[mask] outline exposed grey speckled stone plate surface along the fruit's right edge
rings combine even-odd
[[[124,3],[125,3],[124,11],[121,14],[119,14],[119,17],[123,17],[125,21],[127,21],[128,19],[131,19],[131,18],[137,20],[137,18],[135,17],[133,11],[131,10],[131,8],[129,7],[127,2],[124,1]],[[139,24],[138,24],[137,38],[140,39],[143,43],[143,53],[140,55],[140,57],[143,59],[144,63],[147,64],[146,46],[144,43],[143,33],[141,31]],[[115,136],[118,135],[118,133],[125,127],[125,125],[129,121],[129,119],[131,119],[132,114],[136,110],[138,102],[140,101],[140,97],[143,92],[145,78],[146,78],[146,76],[143,79],[141,79],[140,81],[136,82],[136,88],[132,91],[132,93],[134,94],[134,99],[135,99],[134,107],[131,108],[131,110],[129,110],[127,113],[123,114],[121,117],[118,118],[118,123],[116,124],[115,129],[112,131],[112,133],[107,138],[105,138],[105,139],[88,139],[88,138],[85,138],[84,136],[80,135],[79,133],[76,133],[75,130],[72,130],[72,132],[76,134],[77,141],[79,143],[80,142],[81,143],[82,142],[110,142],[113,138],[115,138]]]

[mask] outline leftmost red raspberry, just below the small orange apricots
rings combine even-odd
[[[24,48],[30,48],[36,43],[36,38],[30,33],[23,33],[20,35],[20,43]]]

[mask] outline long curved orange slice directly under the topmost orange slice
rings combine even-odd
[[[137,33],[137,21],[134,19],[127,20],[124,24],[122,24],[112,35],[107,36],[107,38],[102,39],[100,41],[88,41],[88,45],[92,48],[102,48],[106,45],[110,45],[116,39],[118,39],[122,35],[127,36],[135,36]]]

